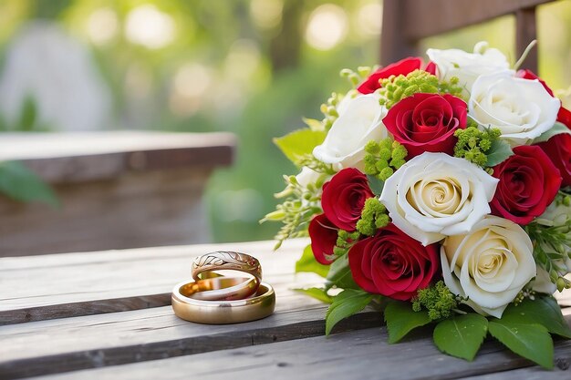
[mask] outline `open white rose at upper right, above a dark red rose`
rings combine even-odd
[[[468,115],[484,127],[499,128],[502,137],[516,146],[552,128],[560,104],[538,80],[498,73],[476,79]]]

